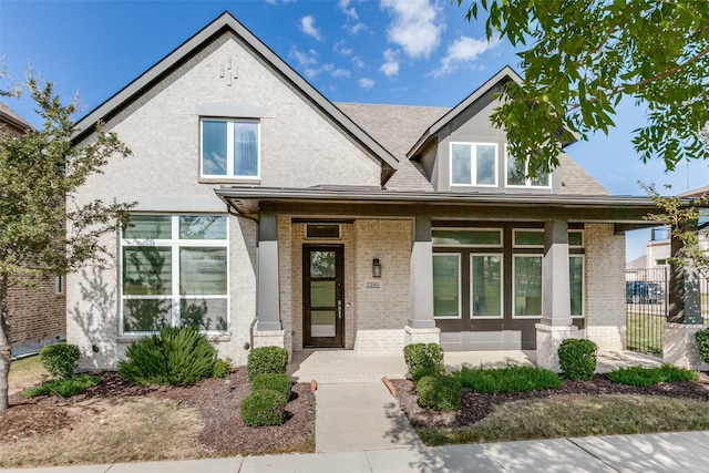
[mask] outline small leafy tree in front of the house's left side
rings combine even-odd
[[[131,204],[78,204],[74,193],[113,155],[131,151],[100,125],[94,141],[72,142],[78,111],[63,105],[52,83],[28,78],[24,86],[43,120],[20,138],[0,131],[0,411],[7,410],[11,335],[8,291],[65,275],[89,261],[109,265],[101,236],[127,223]],[[13,93],[3,91],[2,95]]]

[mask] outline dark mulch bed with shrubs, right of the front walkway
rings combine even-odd
[[[397,388],[397,400],[412,424],[417,426],[471,425],[490,414],[495,405],[526,399],[546,399],[556,395],[643,394],[690,398],[709,401],[709,376],[699,374],[698,382],[660,383],[648,388],[615,383],[606,374],[596,374],[590,381],[563,381],[561,388],[511,394],[482,394],[463,389],[460,412],[436,412],[421,408],[410,380],[391,380]]]

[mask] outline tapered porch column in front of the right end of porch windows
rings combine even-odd
[[[568,223],[544,223],[542,320],[536,325],[537,366],[561,371],[558,347],[567,338],[578,338],[572,323],[568,279]]]

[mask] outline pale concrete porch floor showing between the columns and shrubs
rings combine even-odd
[[[508,364],[534,366],[536,351],[449,351],[444,354],[446,371],[462,366],[502,368]],[[629,366],[658,366],[662,360],[645,353],[627,350],[603,350],[598,352],[597,372],[605,373],[615,368]],[[323,384],[377,382],[382,377],[402,379],[407,374],[403,354],[364,356],[351,350],[294,351],[288,374],[296,381],[317,380]]]

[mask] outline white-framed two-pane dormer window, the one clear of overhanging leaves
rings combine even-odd
[[[497,145],[451,143],[452,185],[497,185]]]

